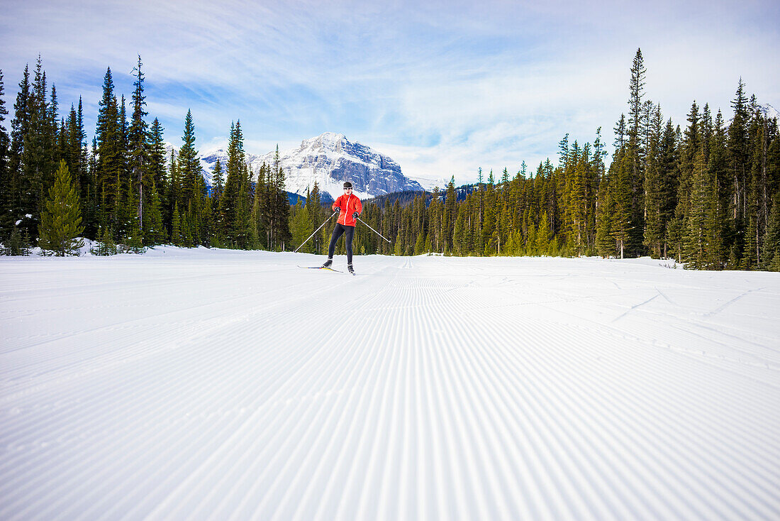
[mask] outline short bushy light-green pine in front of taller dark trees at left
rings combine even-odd
[[[79,255],[83,247],[80,235],[81,208],[79,194],[70,178],[68,166],[60,161],[54,185],[41,212],[41,238],[38,244],[48,255]]]

